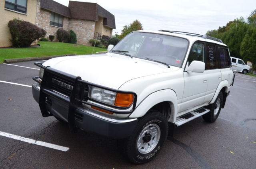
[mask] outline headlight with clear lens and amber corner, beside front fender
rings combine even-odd
[[[117,93],[103,88],[90,86],[89,98],[106,104],[128,107],[133,102],[133,94]]]

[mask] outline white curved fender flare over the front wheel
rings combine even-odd
[[[134,112],[129,116],[129,118],[139,118],[144,116],[150,108],[160,102],[170,102],[171,103],[171,117],[170,119],[176,119],[176,114],[178,110],[178,100],[177,95],[172,89],[163,89],[158,90],[156,92],[151,93],[148,95],[144,100],[142,100],[137,107],[135,108]]]

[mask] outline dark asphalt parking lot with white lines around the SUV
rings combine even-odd
[[[33,63],[0,64],[0,169],[256,168],[256,77],[237,73],[216,122],[200,117],[176,128],[153,161],[133,165],[116,140],[71,134],[66,124],[42,117],[32,97],[39,72]]]

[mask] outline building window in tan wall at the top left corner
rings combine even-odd
[[[26,13],[27,0],[5,0],[4,8]]]

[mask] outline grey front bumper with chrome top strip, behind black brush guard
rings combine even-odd
[[[62,100],[47,95],[44,100],[40,100],[40,86],[38,83],[32,85],[32,93],[36,102],[45,105],[47,116],[56,116],[67,121],[70,125],[70,105]],[[41,108],[41,107],[40,107]],[[41,108],[42,111],[42,108]],[[73,109],[74,119],[72,118],[72,126],[82,129],[86,132],[100,134],[114,139],[123,139],[132,135],[136,124],[137,118],[117,119],[102,116],[88,108],[80,106]],[[43,115],[44,116],[44,115]]]

